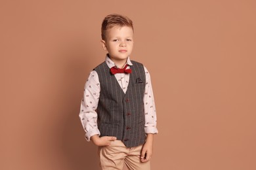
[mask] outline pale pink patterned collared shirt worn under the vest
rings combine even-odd
[[[106,64],[109,68],[115,67],[116,64],[106,56]],[[129,69],[131,63],[130,58],[127,58],[127,69]],[[145,132],[146,133],[158,133],[156,128],[156,106],[154,103],[154,95],[152,90],[152,84],[150,80],[150,74],[146,67],[144,67],[146,75],[146,86],[144,92],[144,114],[145,114]],[[133,74],[133,73],[131,73]],[[123,92],[126,93],[127,86],[129,84],[129,74],[117,73],[115,75],[119,86],[123,89]],[[85,129],[85,138],[87,141],[90,141],[90,138],[93,135],[100,135],[100,131],[97,126],[97,113],[96,109],[98,106],[98,99],[100,97],[100,82],[98,80],[98,74],[96,71],[91,71],[89,78],[85,83],[85,88],[83,91],[83,99],[81,101],[81,108],[79,113],[79,118],[83,129]]]

